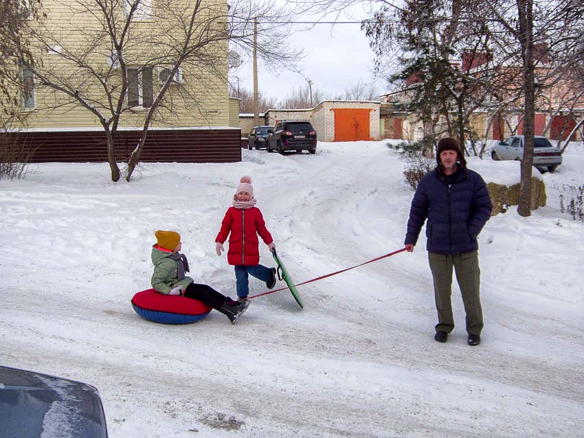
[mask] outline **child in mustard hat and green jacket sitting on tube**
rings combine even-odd
[[[150,284],[157,292],[164,295],[183,295],[198,299],[207,306],[225,314],[232,324],[245,312],[249,301],[233,301],[207,284],[196,284],[189,272],[187,257],[181,251],[181,235],[176,231],[161,231],[155,233],[156,244],[152,247],[152,263],[154,273]]]

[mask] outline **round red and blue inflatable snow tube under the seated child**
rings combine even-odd
[[[154,289],[137,292],[132,298],[132,307],[142,318],[162,324],[194,323],[212,310],[198,299],[164,295]]]

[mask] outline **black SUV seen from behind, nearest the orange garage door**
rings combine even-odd
[[[273,132],[268,135],[268,152],[277,150],[280,154],[284,150],[302,152],[308,150],[311,154],[316,152],[316,131],[308,120],[284,120],[273,127]]]

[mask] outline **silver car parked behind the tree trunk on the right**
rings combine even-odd
[[[493,160],[519,160],[523,159],[524,136],[512,135],[505,141],[501,141],[491,152]],[[533,150],[533,165],[539,172],[554,172],[562,163],[561,150],[552,146],[546,137],[535,135],[535,148]]]

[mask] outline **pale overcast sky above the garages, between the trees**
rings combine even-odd
[[[306,25],[294,25],[295,34],[291,40],[306,54],[300,62],[302,74],[282,71],[276,75],[258,62],[260,93],[281,98],[293,89],[306,87],[307,79],[311,80],[313,90],[316,88],[332,95],[342,93],[359,81],[366,84],[374,82],[374,55],[359,23],[363,16],[364,12],[357,10],[350,16],[339,17],[339,21],[355,21],[355,24],[318,24],[311,30],[303,30]],[[239,82],[241,88],[253,90],[251,56],[242,56],[240,67],[230,71],[230,80],[234,84]],[[377,80],[375,84],[379,94],[382,94],[385,91],[384,81]]]

